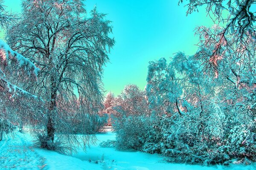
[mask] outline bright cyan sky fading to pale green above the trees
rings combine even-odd
[[[21,0],[5,0],[7,10],[20,12]],[[103,83],[106,93],[121,93],[125,85],[136,84],[145,88],[148,62],[178,51],[192,55],[197,51],[194,36],[197,26],[214,23],[200,12],[186,17],[184,4],[178,0],[87,0],[87,11],[96,5],[113,21],[116,44],[109,54]]]

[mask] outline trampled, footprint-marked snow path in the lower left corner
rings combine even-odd
[[[17,132],[0,141],[0,169],[39,170],[45,166],[45,158],[35,152],[32,142]]]

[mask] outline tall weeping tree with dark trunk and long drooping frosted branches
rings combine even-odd
[[[83,0],[24,0],[22,11],[7,40],[40,68],[38,82],[26,89],[46,103],[41,124],[47,141],[54,142],[55,130],[70,140],[72,127],[64,115],[79,110],[86,122],[85,115],[93,116],[102,105],[102,66],[114,44],[110,21],[96,8],[86,17]]]

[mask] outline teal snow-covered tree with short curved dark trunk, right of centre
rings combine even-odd
[[[169,113],[171,105],[175,105],[178,113],[182,114],[180,95],[183,87],[177,84],[174,69],[166,63],[166,59],[149,62],[147,82],[146,92],[152,116]]]

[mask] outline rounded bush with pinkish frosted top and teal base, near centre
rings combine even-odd
[[[145,134],[151,127],[145,92],[136,85],[127,85],[122,94],[112,100],[112,127],[116,132],[118,149],[141,150]],[[153,125],[152,125],[153,126]]]

